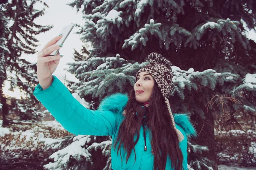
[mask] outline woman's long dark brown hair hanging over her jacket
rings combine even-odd
[[[146,121],[152,134],[151,147],[154,153],[154,170],[157,170],[157,168],[159,170],[165,170],[168,154],[172,161],[172,168],[175,168],[175,170],[182,170],[183,155],[179,147],[177,133],[172,126],[172,120],[169,115],[167,105],[164,102],[156,84],[153,87],[153,91],[149,99],[149,107],[147,109],[148,114],[146,116]],[[143,107],[141,107],[141,104],[136,101],[134,90],[130,92],[125,110],[125,118],[119,127],[114,147],[116,149],[116,146],[118,145],[118,154],[121,145],[123,146],[125,152],[127,152],[127,163],[131,155],[131,151],[134,150],[134,146],[139,140],[140,128],[144,116]],[[137,114],[134,114],[136,112]],[[134,142],[135,134],[137,135],[137,139]]]

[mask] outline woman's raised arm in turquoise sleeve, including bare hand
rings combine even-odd
[[[92,111],[81,105],[64,84],[52,73],[56,70],[62,55],[48,56],[62,45],[55,44],[62,35],[52,38],[38,52],[35,97],[48,109],[55,119],[69,132],[87,135],[112,135],[117,126],[115,113],[107,110]]]

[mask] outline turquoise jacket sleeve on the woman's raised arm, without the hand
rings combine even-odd
[[[112,136],[117,129],[116,113],[85,108],[55,76],[53,76],[53,82],[49,88],[43,89],[38,84],[33,94],[70,133]]]

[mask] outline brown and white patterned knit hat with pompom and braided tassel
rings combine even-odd
[[[172,77],[173,77],[173,72],[171,68],[172,63],[158,53],[149,54],[146,60],[149,62],[149,64],[145,65],[143,68],[141,68],[138,71],[136,75],[136,79],[140,72],[147,72],[154,78],[158,88],[161,91],[163,99],[165,100],[165,103],[167,105],[169,114],[172,119],[172,125],[176,130],[179,142],[181,142],[183,141],[184,136],[180,132],[180,130],[178,130],[175,126],[174,118],[173,118],[169,100],[168,100],[168,97],[171,96],[171,92],[174,87],[174,82],[172,81]]]

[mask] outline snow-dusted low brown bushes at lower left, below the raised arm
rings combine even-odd
[[[69,135],[56,121],[44,121],[37,124],[32,122],[14,122],[17,124],[12,125],[12,127],[0,127],[0,139],[5,139],[0,140],[1,149],[4,151],[34,150],[38,149],[38,147],[46,148],[52,144],[56,146],[56,143],[61,143],[63,138]]]

